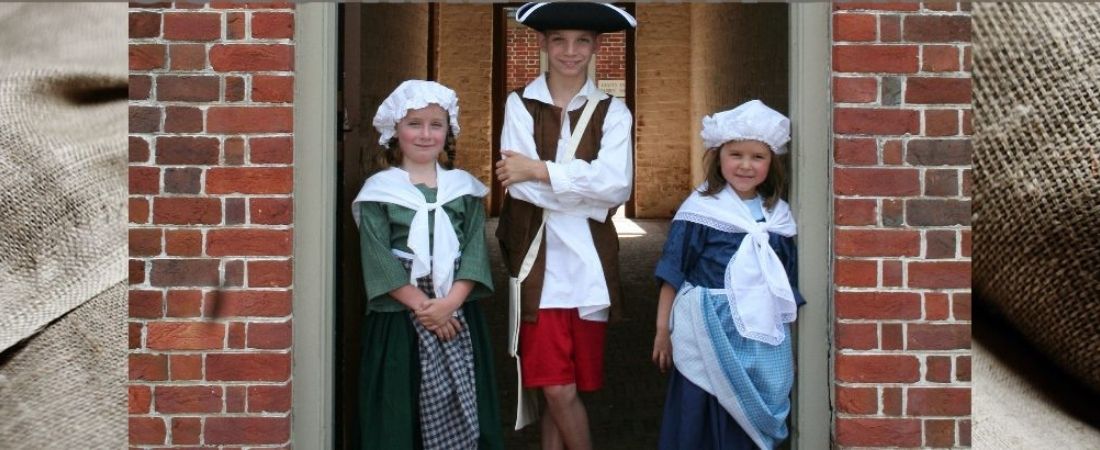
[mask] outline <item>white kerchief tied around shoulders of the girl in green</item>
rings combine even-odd
[[[447,171],[436,167],[436,201],[429,204],[416,186],[409,182],[408,173],[392,167],[374,174],[363,183],[355,200],[352,201],[352,215],[355,224],[359,219],[360,201],[383,201],[415,210],[413,222],[409,223],[408,248],[413,251],[413,271],[409,273],[409,284],[416,285],[416,279],[431,274],[436,287],[436,298],[441,298],[451,290],[454,282],[454,260],[459,256],[459,238],[454,233],[451,218],[446,212],[436,213],[435,233],[428,232],[428,213],[441,211],[443,205],[464,195],[484,197],[488,188],[465,171]],[[429,249],[431,235],[435,234],[435,245]]]

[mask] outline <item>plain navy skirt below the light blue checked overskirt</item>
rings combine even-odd
[[[672,367],[661,419],[661,450],[752,450],[756,444],[718,398]]]

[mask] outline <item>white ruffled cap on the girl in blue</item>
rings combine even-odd
[[[760,100],[749,100],[737,108],[703,118],[703,146],[721,147],[729,141],[760,141],[773,153],[787,153],[791,141],[791,120]]]

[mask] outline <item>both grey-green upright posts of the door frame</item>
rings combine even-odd
[[[334,287],[337,208],[337,4],[295,12],[294,347],[292,442],[334,446]],[[833,429],[832,101],[828,3],[792,3],[790,14],[792,208],[799,222],[800,311],[795,449],[821,448]],[[817,219],[817,220],[814,220]],[[821,306],[821,307],[814,307]]]

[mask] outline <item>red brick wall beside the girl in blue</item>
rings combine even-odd
[[[835,441],[970,444],[970,12],[833,13]]]

